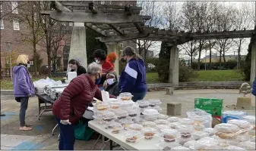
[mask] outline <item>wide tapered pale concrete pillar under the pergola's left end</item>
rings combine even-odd
[[[87,69],[86,29],[84,23],[74,23],[68,60],[79,60]],[[71,69],[68,66],[68,71]]]

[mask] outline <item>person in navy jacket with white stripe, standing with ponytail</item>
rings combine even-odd
[[[119,79],[120,92],[130,92],[134,102],[144,99],[147,94],[146,66],[140,55],[135,54],[130,46],[122,51],[122,62],[126,62]]]

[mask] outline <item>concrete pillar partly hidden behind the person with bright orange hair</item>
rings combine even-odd
[[[117,42],[108,42],[106,43],[106,46],[108,48],[108,54],[110,54],[111,52],[115,52],[115,54],[117,55],[115,60],[115,72],[119,77],[119,45]]]

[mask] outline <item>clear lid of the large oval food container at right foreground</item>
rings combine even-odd
[[[239,127],[236,125],[231,125],[228,123],[221,123],[219,125],[215,125],[214,129],[216,132],[220,133],[236,133],[239,131]]]

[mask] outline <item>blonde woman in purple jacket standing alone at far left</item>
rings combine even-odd
[[[25,123],[25,116],[28,104],[28,98],[35,95],[35,88],[27,69],[29,59],[25,54],[17,57],[17,66],[14,66],[14,97],[17,102],[21,102],[20,109],[20,131],[32,130],[32,125]]]

